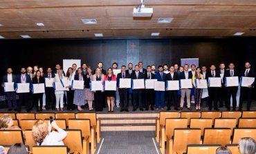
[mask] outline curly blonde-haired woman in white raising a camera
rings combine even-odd
[[[52,131],[52,127],[57,131]],[[33,139],[37,145],[64,145],[63,141],[66,137],[66,131],[57,126],[56,122],[48,122],[37,120],[32,128]]]

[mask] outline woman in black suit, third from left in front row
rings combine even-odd
[[[44,78],[41,77],[41,72],[37,70],[35,74],[35,78],[32,79],[33,84],[39,84],[39,83],[44,83]],[[44,93],[39,93],[39,94],[33,94],[33,102],[34,105],[38,111],[43,111],[43,94]],[[38,107],[38,101],[40,104],[40,107]]]

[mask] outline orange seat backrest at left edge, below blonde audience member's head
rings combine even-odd
[[[0,144],[13,145],[15,143],[24,144],[24,137],[21,130],[0,131]]]

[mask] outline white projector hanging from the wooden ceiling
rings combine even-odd
[[[144,0],[140,0],[141,4],[134,8],[134,17],[152,17],[153,8],[145,8]]]

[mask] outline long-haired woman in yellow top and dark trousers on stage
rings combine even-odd
[[[195,80],[200,80],[204,79],[203,74],[200,73],[201,69],[200,67],[196,67],[196,72],[192,76],[192,83],[194,87],[194,104],[196,105],[196,111],[201,110],[201,98],[203,94],[203,89],[196,88],[196,81]]]

